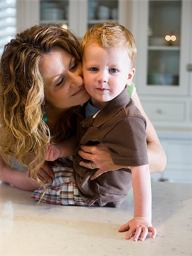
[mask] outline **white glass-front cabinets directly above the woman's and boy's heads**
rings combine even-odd
[[[130,1],[118,0],[19,0],[18,30],[33,24],[60,24],[82,38],[95,23],[114,21],[127,26]]]

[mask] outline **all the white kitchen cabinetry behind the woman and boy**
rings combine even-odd
[[[58,23],[81,39],[93,24],[114,20],[133,32],[137,93],[168,156],[165,172],[152,179],[192,182],[192,0],[19,0],[17,5],[18,31]]]

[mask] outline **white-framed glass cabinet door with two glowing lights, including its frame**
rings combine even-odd
[[[191,2],[133,1],[140,93],[189,93]]]

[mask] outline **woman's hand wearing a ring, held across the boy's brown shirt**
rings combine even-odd
[[[80,166],[84,166],[86,168],[90,168],[89,163],[93,162],[91,166],[94,169],[98,169],[91,176],[91,180],[96,179],[98,176],[103,174],[104,172],[118,170],[120,168],[129,168],[128,166],[116,166],[111,159],[110,152],[108,148],[104,144],[97,144],[94,146],[81,146],[81,150],[78,151],[78,154],[88,160],[81,161]]]

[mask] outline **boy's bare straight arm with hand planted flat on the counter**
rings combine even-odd
[[[151,222],[152,216],[152,196],[151,177],[148,164],[145,166],[131,167],[132,186],[134,196],[134,217],[120,227],[119,232],[128,230],[126,239],[130,239],[133,234],[133,241],[143,241],[152,232],[152,238],[156,236],[156,229]]]

